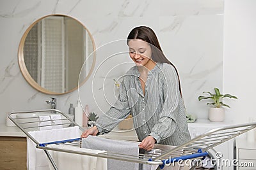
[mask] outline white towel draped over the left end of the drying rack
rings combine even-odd
[[[29,134],[39,143],[60,141],[65,139],[80,138],[79,127],[67,127],[63,129],[52,129],[45,131],[31,131]],[[31,139],[27,138],[27,166],[29,170],[49,169],[47,156],[44,150],[36,148]]]

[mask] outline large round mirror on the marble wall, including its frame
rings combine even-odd
[[[92,35],[81,22],[65,15],[48,15],[29,26],[19,45],[19,66],[24,78],[45,94],[66,94],[83,84],[93,71]],[[86,73],[85,73],[86,72]]]

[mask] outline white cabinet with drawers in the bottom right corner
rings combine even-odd
[[[237,170],[256,169],[256,141],[249,143],[246,139],[236,139]]]

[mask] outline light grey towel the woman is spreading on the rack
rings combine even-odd
[[[131,141],[118,141],[113,139],[100,138],[98,136],[88,136],[82,139],[82,148],[93,150],[106,150],[111,153],[120,153],[126,155],[139,155],[139,143]],[[132,170],[138,169],[139,164],[122,160],[108,159],[108,170]]]

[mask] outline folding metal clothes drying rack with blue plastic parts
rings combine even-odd
[[[20,117],[20,114],[35,113],[38,117]],[[81,139],[67,139],[65,141],[52,141],[50,143],[39,143],[33,136],[29,134],[29,131],[38,131],[40,127],[45,125],[39,125],[39,115],[45,115],[45,113],[59,114],[61,115],[60,124],[54,125],[65,125],[68,127],[78,126],[81,132],[84,131],[83,127],[80,127],[76,122],[74,122],[67,114],[59,110],[36,110],[36,111],[13,111],[8,114],[8,118],[19,127],[19,129],[28,136],[34,143],[36,143],[36,148],[44,150],[47,157],[51,161],[54,169],[58,169],[48,150],[53,150],[57,152],[74,153],[79,155],[88,155],[93,157],[102,157],[106,159],[124,160],[128,162],[136,162],[140,164],[150,164],[159,165],[159,169],[163,169],[164,166],[173,164],[173,162],[178,162],[180,160],[192,160],[194,163],[198,160],[204,159],[209,153],[207,151],[211,150],[214,146],[218,146],[232,138],[243,134],[244,132],[250,131],[256,127],[256,122],[248,124],[239,125],[229,125],[225,127],[220,127],[212,129],[211,131],[205,132],[195,138],[189,140],[188,142],[171,147],[168,145],[155,145],[155,149],[161,149],[161,154],[159,153],[140,153],[139,155],[124,155],[120,153],[87,153],[79,152],[76,150],[67,150],[62,148],[54,148],[54,145],[68,145],[72,147],[80,147]],[[47,125],[46,125],[47,126]],[[50,147],[51,146],[51,147]],[[195,164],[193,164],[195,165]],[[195,169],[195,166],[191,166],[190,169]]]

